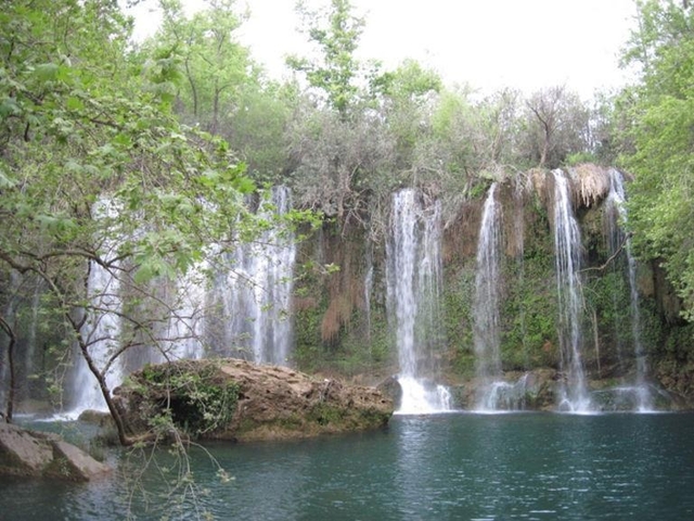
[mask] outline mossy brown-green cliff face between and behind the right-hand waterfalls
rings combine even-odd
[[[656,265],[629,256],[629,238],[616,215],[615,170],[582,165],[563,173],[580,229],[577,280],[581,309],[578,350],[591,390],[634,381],[638,371],[660,391],[693,395],[692,328],[678,316],[678,300]],[[498,338],[503,373],[532,372],[531,407],[555,399],[552,382],[563,371],[562,310],[557,297],[553,173],[535,170],[501,181],[499,217]],[[466,405],[478,377],[475,350],[477,246],[484,195],[460,204],[442,226],[441,313],[445,341],[435,353],[444,381],[460,389]],[[397,343],[389,325],[383,237],[326,225],[303,245],[300,257],[334,263],[340,270],[316,274],[299,284],[294,302],[295,360],[308,371],[334,372],[375,383],[398,372]],[[630,264],[632,263],[632,264]],[[635,285],[634,285],[635,284]],[[635,295],[634,295],[635,288]],[[634,296],[637,297],[634,300]],[[635,306],[635,308],[634,308]],[[637,322],[634,322],[634,320]],[[694,356],[692,356],[694,359]]]

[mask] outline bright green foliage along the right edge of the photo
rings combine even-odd
[[[617,99],[615,130],[620,161],[634,175],[629,226],[639,255],[661,264],[692,320],[694,9],[672,0],[638,5],[639,26],[624,60],[640,77]]]

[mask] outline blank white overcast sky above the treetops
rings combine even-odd
[[[150,0],[151,1],[151,0]],[[327,4],[330,0],[311,0]],[[201,4],[200,0],[187,0]],[[287,53],[306,55],[295,0],[236,0],[250,18],[240,40],[270,76],[285,74]],[[635,14],[633,0],[351,0],[367,26],[361,59],[395,68],[412,58],[448,85],[526,92],[566,84],[584,98],[625,81],[618,52]],[[149,16],[151,18],[151,15]],[[143,17],[140,17],[142,20]],[[141,27],[150,28],[152,20]],[[140,29],[142,30],[142,29]]]

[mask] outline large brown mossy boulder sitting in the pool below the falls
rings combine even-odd
[[[116,390],[116,402],[133,435],[170,415],[193,437],[234,441],[375,429],[394,411],[374,387],[239,359],[149,366]]]

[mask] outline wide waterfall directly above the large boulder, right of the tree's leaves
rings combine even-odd
[[[271,219],[286,214],[291,206],[290,189],[275,187],[258,215]],[[290,364],[295,257],[293,234],[271,226],[255,241],[239,245],[229,259],[231,271],[224,287],[215,290],[222,292],[229,345],[256,364]]]

